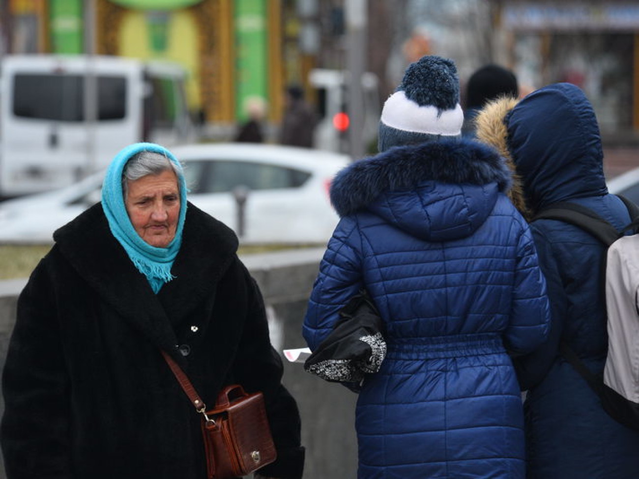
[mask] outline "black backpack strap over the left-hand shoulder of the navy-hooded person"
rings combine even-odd
[[[638,209],[639,211],[639,209]],[[587,231],[606,246],[612,245],[620,233],[613,225],[601,218],[590,208],[569,201],[551,204],[548,209],[537,213],[535,220],[559,220]]]

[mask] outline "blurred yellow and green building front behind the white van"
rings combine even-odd
[[[89,36],[96,54],[180,63],[189,73],[190,109],[210,123],[243,119],[243,105],[251,96],[264,98],[268,118],[277,122],[285,84],[304,79],[319,50],[300,47],[299,36],[309,27],[300,27],[298,3],[3,0],[0,52],[81,54]],[[93,15],[93,32],[83,30],[88,14]],[[306,22],[318,30],[315,20],[311,11]]]

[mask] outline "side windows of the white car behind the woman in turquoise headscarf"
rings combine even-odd
[[[310,177],[309,172],[277,165],[242,160],[215,160],[210,162],[208,171],[201,170],[198,178],[200,183],[197,188],[192,188],[192,191],[225,193],[233,191],[236,186],[247,186],[250,190],[298,188]]]

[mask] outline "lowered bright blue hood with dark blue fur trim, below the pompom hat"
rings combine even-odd
[[[331,202],[340,217],[370,211],[429,241],[472,234],[511,172],[495,151],[475,141],[428,142],[391,148],[340,171]]]

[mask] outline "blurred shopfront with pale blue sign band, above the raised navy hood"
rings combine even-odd
[[[524,89],[581,87],[604,142],[639,145],[639,1],[493,0],[493,55]]]

